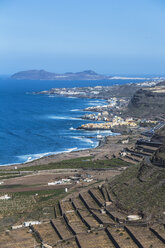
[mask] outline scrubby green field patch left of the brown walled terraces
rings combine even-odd
[[[19,224],[29,219],[54,218],[54,206],[67,193],[64,189],[50,189],[9,193],[8,195],[11,197],[10,200],[0,200],[0,227],[5,227],[3,223],[6,218],[10,219],[9,225]]]

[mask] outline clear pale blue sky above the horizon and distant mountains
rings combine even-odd
[[[0,74],[165,75],[164,0],[0,0]]]

